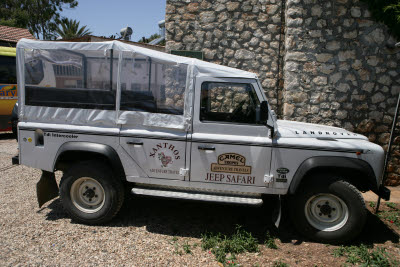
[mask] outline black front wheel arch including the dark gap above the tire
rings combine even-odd
[[[378,189],[375,173],[369,163],[361,159],[333,156],[311,157],[303,161],[289,186],[289,193],[294,194],[301,183],[313,174],[326,172],[343,175],[343,179],[357,187],[360,191],[376,191]]]

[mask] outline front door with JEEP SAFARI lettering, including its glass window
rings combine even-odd
[[[264,186],[272,140],[259,122],[264,95],[253,79],[196,80],[190,181]]]

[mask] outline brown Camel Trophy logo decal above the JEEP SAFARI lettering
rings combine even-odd
[[[251,166],[246,166],[246,158],[236,153],[225,153],[218,156],[218,163],[211,164],[212,172],[250,174]]]

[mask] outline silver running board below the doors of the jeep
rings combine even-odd
[[[232,204],[242,204],[242,205],[262,205],[263,203],[261,198],[221,196],[221,195],[187,193],[187,192],[176,192],[176,191],[144,189],[144,188],[132,188],[131,192],[134,195],[178,198],[178,199],[232,203]]]

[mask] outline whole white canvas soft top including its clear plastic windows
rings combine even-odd
[[[110,51],[112,52],[110,53]],[[87,58],[97,57],[98,60],[93,64],[91,63],[90,68],[86,68],[86,63],[79,62],[76,56],[74,58],[74,54],[84,54]],[[116,57],[116,55],[118,56]],[[109,64],[107,68],[104,62],[110,62],[110,58],[111,64],[107,63]],[[143,66],[147,67],[142,67],[142,72],[146,69],[151,72],[150,75],[144,73],[141,76],[142,80],[147,79],[148,81],[148,87],[145,89],[144,87],[147,84],[143,81],[141,82],[142,88],[136,88],[140,80],[137,75],[141,75],[138,74],[137,70],[133,70],[135,64],[141,64],[137,60],[146,62],[143,63]],[[43,82],[29,84],[28,81],[32,81],[29,77],[34,76],[37,72],[37,69],[29,64],[38,61],[47,62],[43,63],[45,78],[42,75],[40,79]],[[132,62],[135,62],[135,64],[132,65]],[[92,75],[93,79],[91,79],[92,77],[87,79],[85,76],[81,79],[82,81],[71,86],[71,83],[63,82],[65,77],[56,77],[59,75],[57,72],[63,69],[80,72],[84,68],[86,68],[85,75]],[[111,75],[107,74],[106,68],[109,73],[112,73]],[[257,78],[256,74],[251,72],[198,59],[171,55],[119,41],[59,42],[22,39],[17,44],[17,71],[20,88],[19,117],[22,122],[68,123],[101,127],[130,124],[138,127],[180,130],[188,130],[191,125],[192,99],[196,77]],[[155,79],[156,73],[159,75],[158,81],[154,81],[154,84],[152,84],[154,86],[150,88],[150,80]],[[96,85],[87,84],[87,81],[101,80],[101,77],[104,77],[104,79],[100,81],[100,87],[96,87],[97,84],[100,84],[99,82]],[[27,78],[29,79],[27,80]],[[44,82],[46,79],[47,81]],[[105,85],[107,79],[109,79],[109,82]],[[138,96],[137,93],[140,93],[140,95]],[[79,103],[79,99],[76,101],[78,96],[81,99],[99,100],[102,103],[79,106],[78,104],[82,103]],[[126,104],[124,101],[130,103]],[[150,103],[149,101],[153,102]],[[134,106],[132,103],[142,107],[131,108]],[[127,105],[130,106],[124,108]],[[146,107],[143,108],[143,106]],[[153,112],[152,108],[155,108],[156,111]],[[176,110],[171,111],[174,108],[177,112],[175,112]]]

